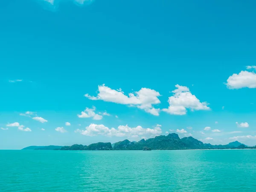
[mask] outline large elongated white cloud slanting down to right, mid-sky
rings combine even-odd
[[[136,106],[147,113],[159,116],[160,109],[156,109],[152,106],[160,103],[158,99],[160,93],[155,90],[141,88],[139,91],[129,93],[128,96],[126,96],[122,90],[113,90],[105,86],[105,84],[102,84],[98,86],[98,91],[97,96],[90,96],[89,94],[85,94],[84,96],[91,100],[103,100],[105,102]]]

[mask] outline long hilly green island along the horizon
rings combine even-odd
[[[90,145],[71,145],[71,146],[29,146],[22,150],[186,150],[186,149],[245,149],[256,148],[256,146],[249,147],[238,141],[231,142],[227,145],[211,145],[203,143],[193,137],[180,137],[175,134],[168,134],[167,136],[160,135],[148,140],[129,141],[123,140],[116,143],[93,143]]]

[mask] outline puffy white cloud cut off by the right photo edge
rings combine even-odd
[[[248,71],[241,71],[239,74],[234,73],[227,79],[226,85],[229,89],[256,88],[256,74]]]

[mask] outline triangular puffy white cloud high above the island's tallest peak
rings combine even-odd
[[[163,109],[163,111],[174,114],[174,115],[185,115],[187,110],[210,110],[207,106],[207,102],[200,102],[195,95],[189,91],[188,87],[175,85],[177,89],[173,90],[173,96],[170,96],[168,99],[169,107]]]

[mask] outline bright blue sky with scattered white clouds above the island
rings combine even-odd
[[[0,149],[177,133],[256,145],[256,2],[0,2]]]

